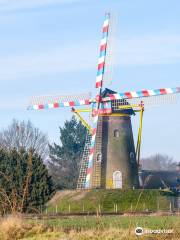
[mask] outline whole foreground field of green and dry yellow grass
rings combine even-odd
[[[137,238],[135,228],[173,229],[171,234],[144,234]],[[106,216],[61,217],[48,220],[25,220],[10,216],[1,219],[1,240],[133,240],[133,239],[180,239],[178,216]]]

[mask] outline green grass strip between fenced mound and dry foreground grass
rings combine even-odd
[[[149,229],[171,229],[179,228],[179,216],[104,216],[104,217],[63,217],[59,219],[43,219],[38,220],[38,223],[43,223],[50,227],[66,230],[103,230],[108,228],[128,229],[140,226]]]

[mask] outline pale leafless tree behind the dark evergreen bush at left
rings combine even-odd
[[[48,156],[48,138],[30,121],[18,121],[13,119],[12,124],[0,132],[0,146],[5,149],[25,149],[46,158]]]

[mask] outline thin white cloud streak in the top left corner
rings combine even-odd
[[[68,4],[80,0],[0,0],[0,11],[36,8],[53,4]]]

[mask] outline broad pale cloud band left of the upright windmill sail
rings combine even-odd
[[[87,53],[88,49],[88,53]],[[94,51],[95,49],[95,51]],[[0,80],[77,72],[96,66],[96,48],[88,43],[0,58]]]

